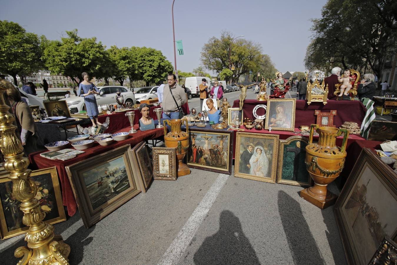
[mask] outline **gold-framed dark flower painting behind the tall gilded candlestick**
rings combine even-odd
[[[44,221],[49,224],[66,221],[61,189],[56,167],[35,170],[30,174],[37,185],[37,195],[42,211],[46,213]],[[1,239],[11,238],[29,230],[22,222],[21,204],[12,195],[12,181],[0,178],[0,235]]]

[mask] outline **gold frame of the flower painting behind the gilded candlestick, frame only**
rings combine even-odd
[[[58,208],[59,217],[47,220],[46,222],[48,222],[49,224],[56,224],[58,222],[66,221],[64,203],[62,201],[61,188],[59,185],[58,173],[56,172],[56,167],[54,166],[52,168],[35,170],[31,173],[30,176],[33,179],[35,176],[40,176],[48,173],[51,174],[52,186],[54,187],[56,207]],[[8,179],[7,176],[0,178],[0,183],[10,182],[10,181],[11,180]],[[8,231],[6,219],[3,213],[4,213],[3,205],[0,202],[0,236],[2,240],[7,238],[12,238],[13,236],[18,236],[29,230],[29,227],[26,226],[23,228]]]

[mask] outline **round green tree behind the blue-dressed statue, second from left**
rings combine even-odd
[[[107,56],[105,46],[101,42],[97,43],[95,37],[77,36],[77,29],[66,33],[67,37],[61,38],[61,41],[48,41],[45,44],[42,59],[48,70],[69,76],[75,83],[83,81],[82,72],[87,72],[91,77],[102,77],[101,68],[105,66]]]

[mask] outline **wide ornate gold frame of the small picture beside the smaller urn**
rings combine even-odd
[[[168,155],[168,167],[170,168],[170,174],[161,174],[159,170],[158,155]],[[153,147],[153,177],[155,180],[176,180],[177,178],[177,162],[176,162],[176,148],[168,147]]]

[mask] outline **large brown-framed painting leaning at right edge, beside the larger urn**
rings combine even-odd
[[[385,236],[397,239],[397,174],[364,148],[334,212],[349,264],[368,264]]]

